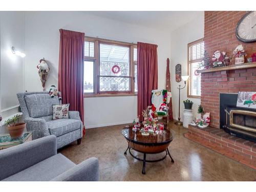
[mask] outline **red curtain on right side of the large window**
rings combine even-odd
[[[138,42],[138,116],[151,105],[151,92],[157,89],[157,45]]]

